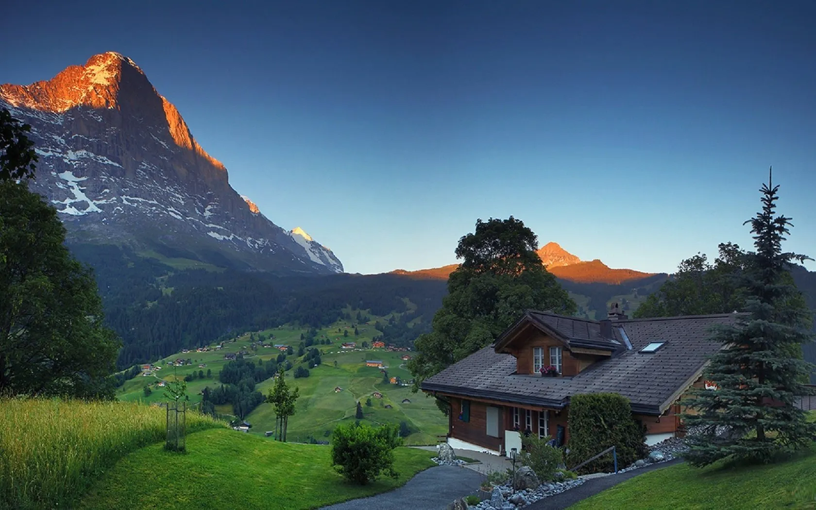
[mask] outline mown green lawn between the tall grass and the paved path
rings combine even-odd
[[[320,508],[401,486],[432,467],[432,455],[398,448],[397,480],[356,486],[331,468],[329,446],[213,429],[190,434],[185,455],[157,444],[126,456],[100,477],[78,508]]]

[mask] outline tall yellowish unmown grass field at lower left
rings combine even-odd
[[[0,398],[0,508],[71,508],[105,468],[165,438],[165,410],[131,402]],[[224,424],[195,412],[188,432]]]

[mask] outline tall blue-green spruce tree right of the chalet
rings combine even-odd
[[[793,225],[776,215],[778,188],[769,175],[762,210],[745,222],[756,247],[742,282],[747,313],[712,336],[723,348],[703,376],[716,389],[695,390],[688,402],[685,423],[697,430],[688,437],[686,459],[694,466],[725,458],[769,462],[816,436],[816,424],[795,403],[808,392],[802,383],[812,366],[801,359],[801,346],[812,340],[812,320],[789,274],[808,257],[782,251]]]

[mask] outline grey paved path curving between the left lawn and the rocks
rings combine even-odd
[[[418,472],[406,485],[368,498],[352,499],[321,510],[444,510],[454,499],[474,494],[485,477],[466,468],[437,466]]]

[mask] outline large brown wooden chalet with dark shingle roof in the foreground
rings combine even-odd
[[[499,338],[423,381],[450,401],[448,443],[507,455],[521,433],[570,441],[570,397],[614,392],[632,402],[646,443],[682,435],[681,395],[703,387],[712,327],[738,314],[629,319],[617,305],[602,321],[528,311]]]

